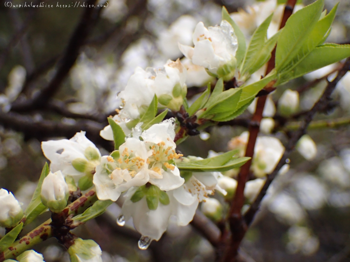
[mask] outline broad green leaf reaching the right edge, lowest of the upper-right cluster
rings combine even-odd
[[[293,71],[281,74],[278,83],[301,77],[311,71],[333,64],[350,56],[350,45],[323,44],[317,46]]]

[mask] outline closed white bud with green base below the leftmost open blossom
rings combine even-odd
[[[50,172],[44,178],[40,196],[41,202],[52,212],[60,212],[66,207],[69,190],[61,171]]]

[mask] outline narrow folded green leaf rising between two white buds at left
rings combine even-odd
[[[29,205],[26,208],[26,211],[24,212],[24,225],[29,224],[31,221],[33,221],[38,215],[40,215],[44,210],[47,209],[46,206],[44,206],[43,203],[41,203],[40,194],[41,194],[41,185],[44,181],[44,178],[50,173],[49,165],[46,162],[42,171],[41,175],[38,181],[38,185],[36,186],[36,189],[34,191],[33,197],[30,200]]]

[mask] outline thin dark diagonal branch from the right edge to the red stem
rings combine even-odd
[[[315,114],[317,112],[322,112],[324,110],[324,108],[327,107],[328,102],[331,100],[330,96],[331,96],[332,92],[334,91],[337,83],[345,75],[345,73],[348,72],[349,70],[350,70],[350,58],[346,59],[346,62],[344,64],[343,68],[341,70],[339,70],[337,77],[332,82],[328,82],[328,85],[327,85],[326,89],[324,90],[324,93],[322,94],[321,98],[316,102],[314,107],[305,115],[304,120],[301,122],[300,128],[292,134],[292,137],[290,138],[290,140],[286,146],[286,150],[285,150],[282,158],[278,162],[274,171],[270,175],[267,176],[266,182],[265,182],[264,186],[262,187],[259,195],[257,196],[254,203],[250,206],[250,208],[248,209],[248,211],[246,212],[246,214],[244,216],[244,219],[245,219],[247,225],[251,224],[251,222],[255,216],[255,213],[259,209],[262,198],[266,195],[266,191],[267,191],[269,185],[271,184],[271,182],[273,181],[275,176],[278,174],[278,171],[281,169],[281,167],[286,163],[286,159],[289,157],[289,154],[293,151],[297,141],[299,141],[299,139],[303,136],[303,134],[306,133],[306,130],[307,130],[311,120],[315,116]]]

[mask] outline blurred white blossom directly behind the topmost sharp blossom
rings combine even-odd
[[[193,16],[182,15],[167,30],[160,32],[157,44],[165,57],[170,59],[181,57],[182,54],[177,43],[192,44],[192,34],[196,23]]]

